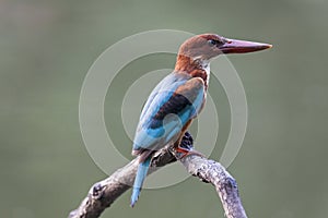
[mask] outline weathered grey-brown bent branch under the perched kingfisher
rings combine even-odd
[[[181,146],[192,147],[192,137],[189,133],[185,134]],[[176,161],[176,159],[179,159],[189,173],[215,186],[227,218],[247,218],[236,181],[222,165],[214,160],[198,155],[181,157],[181,154],[176,153],[168,145],[154,154],[149,173],[154,172],[159,167]],[[118,169],[109,178],[95,183],[80,206],[70,213],[69,218],[99,217],[104,209],[132,186],[137,168],[138,158]]]

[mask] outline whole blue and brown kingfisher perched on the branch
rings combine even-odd
[[[210,60],[222,53],[246,53],[271,47],[269,44],[229,39],[216,34],[197,35],[180,46],[174,71],[152,90],[139,119],[132,155],[140,157],[131,207],[139,198],[152,155],[156,150],[172,143],[183,156],[196,153],[179,144],[206,104]]]

